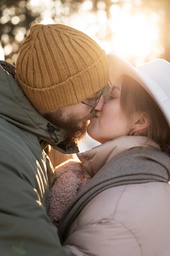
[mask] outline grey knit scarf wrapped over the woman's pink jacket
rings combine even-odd
[[[85,205],[100,192],[114,186],[145,182],[168,182],[170,157],[154,147],[125,151],[107,162],[65,210],[59,226],[61,243]]]

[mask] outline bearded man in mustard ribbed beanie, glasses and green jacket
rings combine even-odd
[[[107,81],[105,52],[61,24],[31,27],[15,79],[0,66],[0,256],[73,255],[47,215],[54,176],[44,148],[78,151]]]

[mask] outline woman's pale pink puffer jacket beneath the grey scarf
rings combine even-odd
[[[128,140],[124,146],[113,148],[112,144],[109,154],[116,155],[127,146],[130,149]],[[132,147],[142,146],[143,142],[137,141]],[[148,146],[159,148],[154,142]],[[94,148],[94,162],[96,150],[98,159],[101,157],[100,146]],[[104,152],[102,148],[101,154]],[[88,156],[83,153],[81,160],[91,158]],[[86,204],[63,245],[77,256],[170,256],[169,216],[168,182],[116,186],[102,191]]]

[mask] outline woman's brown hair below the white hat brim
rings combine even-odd
[[[121,87],[121,106],[125,114],[133,118],[136,112],[146,112],[150,124],[144,136],[155,140],[160,146],[170,144],[170,128],[160,108],[146,90],[130,76],[124,75]]]

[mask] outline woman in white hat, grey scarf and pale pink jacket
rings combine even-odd
[[[88,183],[63,214],[61,241],[77,256],[169,256],[170,63],[108,62],[111,90],[87,128],[101,145],[78,154]]]

